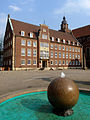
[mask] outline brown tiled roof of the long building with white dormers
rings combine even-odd
[[[29,37],[28,34],[30,32],[33,32],[35,34],[35,37],[37,37],[38,30],[40,30],[40,26],[37,26],[37,25],[24,23],[24,22],[17,21],[17,20],[14,20],[14,19],[11,19],[11,22],[12,22],[12,26],[13,26],[13,29],[14,29],[14,33],[16,35],[21,35],[20,31],[25,31],[25,36],[26,37]],[[62,32],[62,31],[56,31],[56,30],[52,30],[52,29],[49,29],[49,32],[50,32],[50,37],[76,41],[76,39],[70,33]]]

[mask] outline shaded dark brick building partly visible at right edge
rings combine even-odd
[[[83,68],[90,68],[90,25],[74,29],[72,32],[83,46]]]

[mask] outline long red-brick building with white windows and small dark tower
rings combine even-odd
[[[24,23],[8,15],[4,37],[4,66],[21,69],[82,67],[82,46],[63,17],[60,30]]]

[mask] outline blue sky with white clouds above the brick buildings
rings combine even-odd
[[[90,0],[0,0],[0,37],[7,17],[34,25],[45,24],[59,30],[63,19],[69,29],[90,25]]]

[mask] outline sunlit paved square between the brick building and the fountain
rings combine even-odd
[[[90,70],[0,71],[0,96],[20,90],[45,89],[61,72],[74,80],[79,88],[90,89]]]

